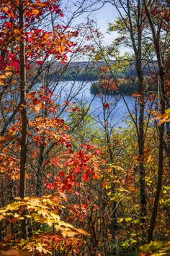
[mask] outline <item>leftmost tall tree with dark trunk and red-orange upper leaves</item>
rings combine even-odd
[[[19,196],[25,197],[26,189],[26,165],[27,165],[27,69],[30,64],[36,62],[40,67],[45,59],[51,55],[57,55],[58,59],[66,59],[66,51],[72,46],[71,33],[64,35],[62,31],[45,31],[40,28],[42,18],[52,12],[63,16],[61,9],[55,1],[3,1],[1,4],[1,82],[4,90],[15,90],[14,76],[19,75],[20,101],[12,115],[4,119],[4,134],[10,121],[21,112],[21,140],[20,140],[20,184]],[[47,18],[47,17],[46,17]],[[37,39],[38,37],[39,40]],[[34,45],[33,40],[37,39]],[[44,48],[45,44],[47,47]],[[40,59],[41,58],[41,59]],[[39,59],[39,60],[38,60]],[[8,70],[8,72],[6,72]],[[7,74],[6,74],[7,73]],[[8,89],[9,88],[9,89]],[[22,221],[22,234],[26,234],[26,225]]]

